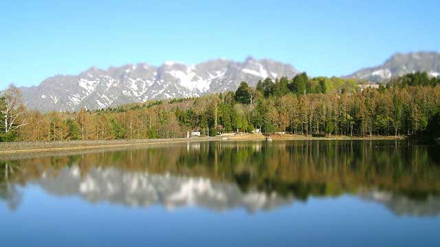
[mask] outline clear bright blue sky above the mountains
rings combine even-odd
[[[247,56],[344,75],[396,52],[439,51],[439,1],[0,0],[0,89],[166,60]]]

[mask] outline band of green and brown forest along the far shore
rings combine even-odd
[[[345,78],[270,78],[233,92],[152,100],[74,113],[28,110],[11,85],[0,97],[0,141],[157,139],[223,132],[305,136],[440,133],[440,78],[426,72],[392,78],[378,89]]]

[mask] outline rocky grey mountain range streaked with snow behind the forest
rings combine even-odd
[[[393,76],[415,71],[440,75],[440,54],[415,52],[395,54],[384,64],[360,69],[344,78],[386,82]],[[240,82],[251,86],[265,78],[294,77],[290,64],[252,57],[243,62],[216,59],[195,65],[164,62],[159,67],[146,63],[98,69],[91,67],[79,75],[56,75],[38,86],[21,87],[28,108],[75,111],[100,109],[151,99],[197,97],[208,93],[236,90]]]

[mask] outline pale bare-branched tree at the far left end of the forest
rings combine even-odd
[[[26,107],[21,99],[21,91],[14,85],[10,85],[3,92],[3,104],[1,115],[3,116],[4,132],[8,134],[28,125],[28,119],[25,117]]]

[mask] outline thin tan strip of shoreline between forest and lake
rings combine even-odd
[[[402,140],[405,136],[371,136],[371,137],[311,137],[299,134],[270,134],[273,141],[350,141],[350,140]],[[30,141],[0,143],[0,154],[19,154],[32,152],[54,152],[72,150],[91,150],[104,148],[122,148],[139,145],[157,145],[166,143],[186,143],[199,141],[265,141],[263,134],[234,134],[217,137],[191,137],[172,139],[140,139],[140,140],[96,140],[96,141]]]

